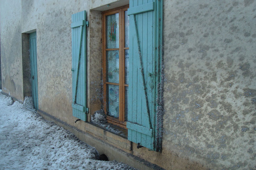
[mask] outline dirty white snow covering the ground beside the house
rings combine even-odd
[[[0,90],[1,91],[1,90]],[[29,109],[30,110],[29,110]],[[97,150],[68,130],[0,93],[0,169],[130,169],[117,161],[99,161]]]

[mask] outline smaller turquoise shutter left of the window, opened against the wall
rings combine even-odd
[[[72,15],[73,116],[86,121],[86,11]]]

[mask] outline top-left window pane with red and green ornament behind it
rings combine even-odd
[[[119,48],[119,14],[106,16],[106,48]]]

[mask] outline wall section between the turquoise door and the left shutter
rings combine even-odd
[[[22,13],[22,31],[37,32],[39,109],[69,123],[75,119],[71,107],[71,15],[86,7],[86,1],[22,1],[22,10],[28,11]]]

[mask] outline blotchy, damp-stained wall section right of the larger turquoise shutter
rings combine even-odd
[[[163,152],[253,169],[256,2],[164,1]]]

